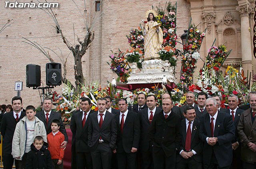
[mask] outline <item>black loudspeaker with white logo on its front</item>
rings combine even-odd
[[[61,64],[46,64],[46,85],[61,85]]]

